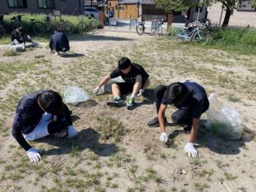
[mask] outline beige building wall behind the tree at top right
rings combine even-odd
[[[212,23],[222,25],[225,14],[226,11],[222,9],[222,4],[215,3],[209,9],[208,18]],[[256,27],[256,7],[251,7],[249,0],[243,0],[242,4],[238,4],[237,9],[233,10],[229,19],[229,25]]]

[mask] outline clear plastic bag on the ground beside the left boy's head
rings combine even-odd
[[[64,91],[64,99],[66,103],[77,105],[80,102],[90,100],[89,94],[79,87],[69,86]]]

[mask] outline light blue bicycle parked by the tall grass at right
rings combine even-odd
[[[185,28],[175,28],[171,37],[174,38],[174,42],[190,42],[194,41],[196,45],[205,45],[209,41],[209,34],[203,30],[200,30],[199,27],[193,28],[193,30],[188,33],[187,27]]]

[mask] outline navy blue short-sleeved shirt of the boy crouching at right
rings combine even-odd
[[[192,117],[198,119],[203,111],[209,108],[209,101],[205,89],[198,83],[192,81],[183,82],[188,88],[188,95],[181,104],[174,105],[179,110],[187,110],[192,112]],[[163,105],[167,105],[165,95],[162,100]]]

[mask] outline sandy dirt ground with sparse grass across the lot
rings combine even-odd
[[[256,191],[255,55],[107,30],[69,38],[71,53],[64,56],[50,54],[47,43],[16,56],[3,56],[9,47],[0,46],[0,191]],[[106,105],[110,94],[92,94],[121,56],[143,65],[150,74],[151,85],[137,98],[134,110],[110,108]],[[238,109],[244,124],[241,139],[227,140],[207,131],[203,114],[198,158],[185,154],[188,134],[179,126],[167,126],[170,143],[160,143],[160,128],[146,126],[156,117],[154,88],[186,79],[199,82],[208,94],[214,92]],[[43,150],[43,159],[30,163],[11,135],[18,100],[38,89],[63,95],[71,85],[91,95],[90,101],[69,105],[79,135],[30,142]],[[168,107],[169,123],[174,111]],[[120,139],[102,137],[100,128],[108,126],[122,129]]]

